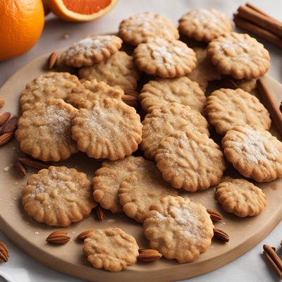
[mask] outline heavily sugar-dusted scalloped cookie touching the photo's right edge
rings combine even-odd
[[[282,142],[266,130],[235,126],[223,137],[226,159],[245,177],[267,182],[282,177]]]

